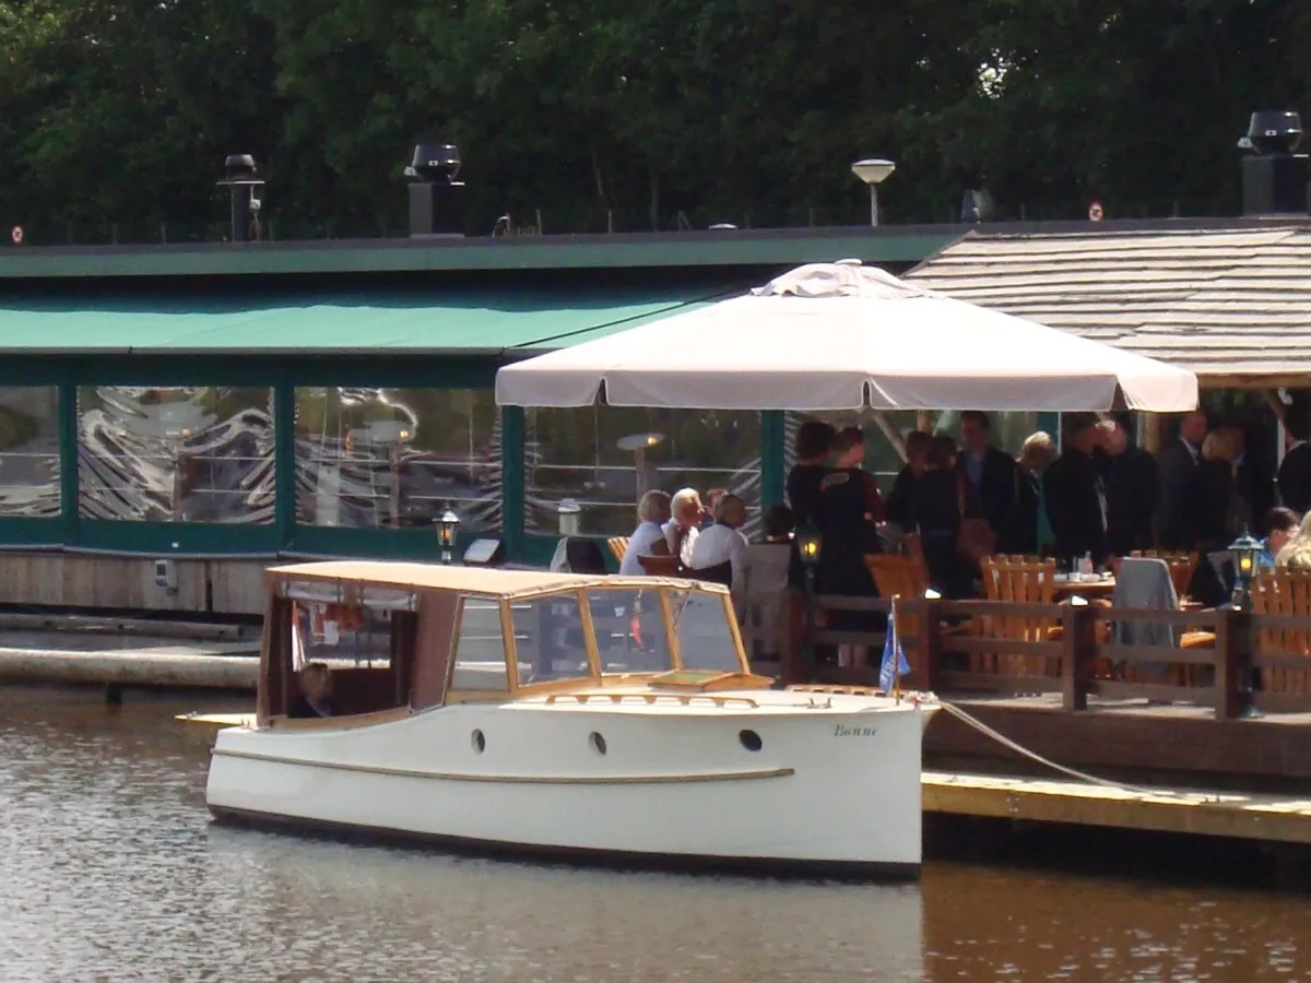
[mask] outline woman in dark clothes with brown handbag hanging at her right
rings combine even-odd
[[[928,581],[944,598],[974,594],[978,568],[957,549],[961,519],[979,519],[983,507],[969,481],[956,472],[956,443],[935,436],[924,457],[924,474],[910,503],[910,518],[919,530],[928,566]]]

